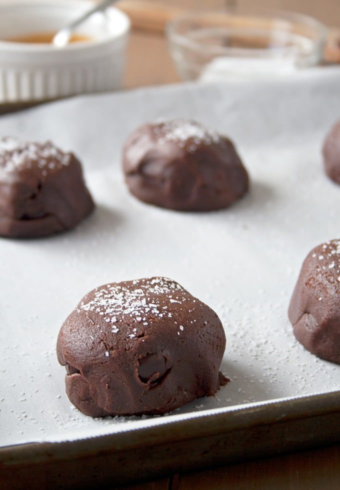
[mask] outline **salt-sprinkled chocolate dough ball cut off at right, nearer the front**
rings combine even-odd
[[[306,349],[340,364],[340,240],[327,241],[307,255],[288,316]]]

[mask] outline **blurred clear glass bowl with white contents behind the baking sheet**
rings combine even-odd
[[[254,15],[195,11],[166,28],[170,53],[184,80],[287,74],[322,58],[327,30],[293,12]]]

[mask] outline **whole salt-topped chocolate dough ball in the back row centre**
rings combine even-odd
[[[229,206],[248,189],[232,142],[194,121],[145,124],[128,138],[123,171],[138,199],[177,210]]]

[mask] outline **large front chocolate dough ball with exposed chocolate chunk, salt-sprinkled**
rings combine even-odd
[[[57,357],[67,396],[83,413],[162,414],[216,392],[224,347],[212,309],[153,277],[86,294],[60,329]]]

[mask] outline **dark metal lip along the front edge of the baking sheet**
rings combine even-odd
[[[313,407],[311,409],[311,406]],[[213,412],[213,413],[211,413]],[[41,462],[53,458],[65,459],[70,454],[84,456],[96,450],[126,450],[150,443],[165,443],[192,439],[204,435],[222,434],[250,426],[284,423],[291,419],[311,418],[327,413],[340,414],[340,390],[312,395],[292,396],[276,400],[249,403],[190,412],[179,420],[164,417],[157,425],[123,428],[112,434],[102,434],[76,440],[26,442],[0,447],[0,463],[20,464]],[[228,416],[226,416],[228,415]],[[202,424],[202,419],[207,423]],[[177,430],[175,430],[177,429]],[[141,437],[140,437],[141,435]],[[312,438],[312,437],[311,437]],[[88,442],[91,441],[90,444]],[[327,442],[327,441],[325,441]]]

